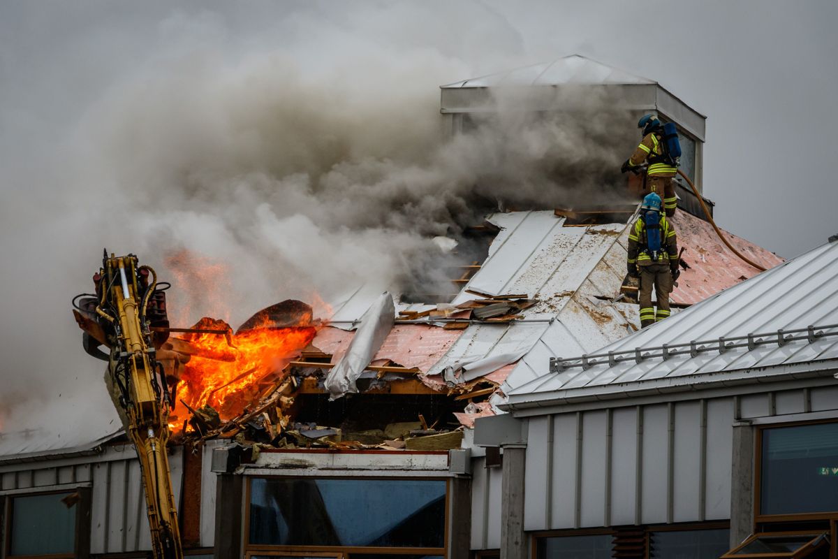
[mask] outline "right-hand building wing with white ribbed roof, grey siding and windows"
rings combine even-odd
[[[475,443],[504,460],[494,484],[475,474],[475,501],[478,487],[500,491],[504,531],[473,545],[835,556],[835,272],[832,241],[596,354],[554,356],[512,391],[510,415],[477,422]]]

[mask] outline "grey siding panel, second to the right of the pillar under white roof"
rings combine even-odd
[[[531,420],[530,420],[531,421]],[[553,472],[549,528],[572,528],[576,522],[577,416],[553,417]],[[538,488],[530,488],[539,490]],[[529,492],[528,492],[529,493]]]

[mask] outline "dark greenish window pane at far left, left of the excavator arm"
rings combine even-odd
[[[75,551],[75,506],[61,502],[69,493],[12,499],[11,555]]]

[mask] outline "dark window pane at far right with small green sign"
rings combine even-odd
[[[763,429],[763,515],[838,510],[838,423]]]

